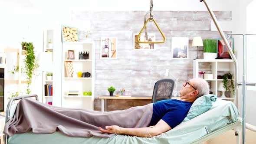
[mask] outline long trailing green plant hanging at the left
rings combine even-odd
[[[39,65],[37,63],[37,59],[36,59],[36,56],[35,56],[33,43],[22,42],[21,45],[27,51],[27,55],[26,55],[26,58],[24,59],[24,62],[25,62],[26,79],[28,81],[26,92],[27,92],[27,95],[29,95],[30,92],[31,92],[30,85],[31,85],[31,82],[32,82],[32,77],[35,74],[34,70],[36,68],[38,68]]]

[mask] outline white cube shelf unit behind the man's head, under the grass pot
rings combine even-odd
[[[210,65],[210,67],[206,65]],[[213,74],[213,79],[205,79],[210,84],[210,90],[214,95],[221,97],[220,92],[218,93],[218,86],[222,83],[223,79],[217,79],[218,75],[230,72],[234,75],[234,66],[232,59],[196,59],[193,62],[193,77],[198,78],[198,72],[203,71],[205,74]],[[233,77],[234,79],[234,77]],[[231,82],[231,79],[228,81]],[[235,95],[230,92],[230,97],[221,98],[224,100],[235,100]]]

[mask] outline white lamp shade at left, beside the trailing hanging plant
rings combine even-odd
[[[39,71],[50,72],[53,70],[53,52],[39,52],[38,54]]]

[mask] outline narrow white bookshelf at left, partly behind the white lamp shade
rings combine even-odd
[[[46,52],[51,55],[52,58],[52,63],[53,63],[53,53],[54,53],[54,30],[53,29],[45,29],[43,31],[43,52]],[[50,42],[50,43],[49,43]],[[54,105],[53,103],[53,95],[55,94],[53,92],[53,88],[50,88],[49,91],[51,91],[51,93],[47,92],[46,88],[51,85],[53,87],[53,76],[51,77],[51,79],[49,79],[47,77],[48,73],[53,73],[53,69],[52,67],[47,68],[47,64],[48,62],[45,62],[43,65],[46,65],[46,68],[43,68],[43,72],[42,72],[42,81],[43,81],[43,85],[42,85],[42,101],[43,103],[49,104],[49,105]],[[47,87],[46,87],[47,85]],[[49,93],[49,94],[48,94]]]

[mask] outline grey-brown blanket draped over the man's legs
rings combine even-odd
[[[148,104],[122,111],[100,112],[75,108],[60,108],[22,98],[16,113],[4,126],[3,133],[13,134],[33,131],[36,134],[50,134],[55,131],[70,137],[111,137],[98,127],[118,125],[123,128],[148,127],[153,114],[153,105]]]

